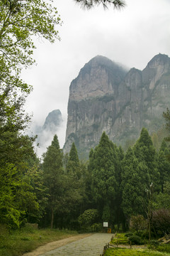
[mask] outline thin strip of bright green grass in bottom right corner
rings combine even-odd
[[[157,252],[152,250],[135,250],[135,249],[124,249],[124,248],[109,248],[105,256],[169,256],[169,253]]]

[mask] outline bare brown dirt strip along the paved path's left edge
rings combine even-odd
[[[25,253],[23,256],[38,256],[38,255],[42,255],[45,252],[49,252],[50,250],[54,250],[54,249],[56,249],[58,247],[61,247],[63,245],[67,245],[70,242],[74,242],[74,241],[86,238],[86,237],[88,237],[90,235],[91,234],[74,235],[74,236],[72,236],[70,238],[64,238],[62,240],[57,240],[55,242],[49,242],[46,245],[42,245],[42,246],[38,247],[33,252]]]

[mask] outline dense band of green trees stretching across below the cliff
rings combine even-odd
[[[169,110],[164,116],[168,120]],[[108,222],[113,230],[126,231],[132,218],[142,216],[164,235],[170,224],[166,140],[156,151],[147,129],[142,128],[137,142],[123,151],[103,132],[99,144],[89,152],[89,160],[80,161],[75,144],[64,155],[55,135],[40,162],[33,138],[4,132],[1,223],[8,228],[38,223],[39,228],[96,232]]]

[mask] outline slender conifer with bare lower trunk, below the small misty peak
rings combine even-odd
[[[47,147],[43,155],[42,171],[45,186],[48,189],[48,207],[50,208],[50,223],[53,228],[54,214],[60,208],[60,196],[62,196],[62,150],[58,142],[57,135],[54,136],[52,143]]]

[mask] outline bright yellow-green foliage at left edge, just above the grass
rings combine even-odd
[[[0,169],[0,215],[1,223],[9,228],[19,228],[26,218],[35,221],[40,217],[39,203],[27,176],[21,174],[13,164]]]

